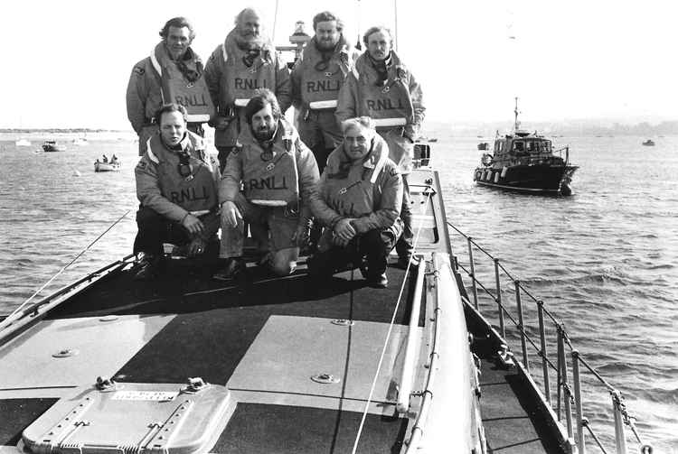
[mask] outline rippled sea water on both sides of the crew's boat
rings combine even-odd
[[[646,137],[553,139],[557,147],[570,145],[570,161],[580,168],[572,196],[544,197],[476,186],[473,171],[483,153],[476,145],[492,138],[427,134],[438,138],[432,163],[447,220],[545,301],[573,346],[622,391],[654,452],[678,452],[678,137],[653,137],[654,147],[641,145]],[[0,137],[0,313],[83,251],[42,295],[131,252],[137,144],[118,135],[90,134],[88,144],[62,153],[38,151],[44,136],[31,136],[33,146],[20,148],[16,137]],[[121,171],[95,173],[102,153],[115,153]],[[466,240],[451,238],[459,263],[467,265]],[[494,289],[494,265],[475,255],[476,274]],[[502,277],[504,302],[514,312],[512,285]],[[495,323],[488,301],[480,304]],[[536,322],[531,304],[523,295],[526,326]],[[519,344],[512,349],[521,357]],[[539,358],[530,355],[532,373],[540,376]],[[584,415],[614,451],[610,396],[590,375],[583,381]],[[554,382],[552,375],[553,398]],[[587,444],[598,452],[589,436]]]

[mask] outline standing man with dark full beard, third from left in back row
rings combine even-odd
[[[342,142],[336,100],[360,53],[344,38],[344,23],[334,14],[315,14],[313,29],[315,36],[292,69],[292,104],[299,110],[299,137],[322,173],[327,156]]]

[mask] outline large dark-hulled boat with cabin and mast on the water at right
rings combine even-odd
[[[519,129],[517,97],[515,103],[513,134],[497,136],[492,153],[483,154],[476,167],[474,181],[503,190],[570,195],[572,175],[579,169],[570,164],[570,148],[554,151],[551,140]]]

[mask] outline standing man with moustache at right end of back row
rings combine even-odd
[[[406,266],[412,255],[412,214],[407,176],[412,171],[414,140],[424,120],[419,82],[393,51],[391,31],[372,27],[363,35],[367,51],[355,62],[339,91],[336,118],[339,122],[354,116],[371,116],[377,132],[389,145],[389,156],[398,165],[403,181],[400,218],[404,230],[396,245],[399,264]]]

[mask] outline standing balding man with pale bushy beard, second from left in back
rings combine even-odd
[[[268,37],[261,31],[259,14],[245,8],[236,16],[235,28],[212,52],[205,79],[217,107],[210,125],[219,150],[221,169],[245,126],[243,111],[258,88],[268,88],[278,97],[284,114],[291,105],[289,70]]]

